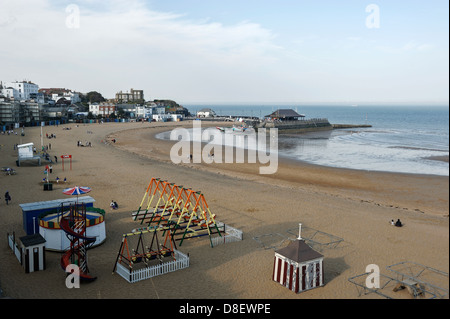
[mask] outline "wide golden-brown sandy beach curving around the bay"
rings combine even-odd
[[[209,125],[216,125],[210,123]],[[26,128],[25,136],[0,135],[0,166],[17,174],[0,175],[0,289],[10,298],[123,298],[123,299],[357,299],[349,278],[376,264],[386,267],[411,261],[449,272],[449,179],[442,176],[395,174],[328,168],[285,159],[273,175],[260,175],[260,164],[173,164],[174,142],[154,136],[191,122],[67,124],[43,128],[49,154],[71,154],[72,170],[53,164],[51,179],[67,178],[43,191],[43,166],[16,167],[14,144],[41,145],[40,128]],[[65,130],[64,128],[71,128]],[[46,134],[56,138],[47,139]],[[112,142],[116,139],[116,143]],[[92,147],[77,147],[77,141]],[[129,284],[112,274],[121,235],[137,227],[131,218],[152,177],[201,191],[217,220],[241,229],[244,240],[209,247],[203,237],[183,243],[190,267]],[[6,233],[24,236],[19,204],[66,198],[62,190],[89,186],[95,207],[106,211],[106,241],[89,251],[89,267],[97,280],[81,289],[65,286],[59,253],[46,253],[46,270],[25,274],[7,244]],[[12,201],[5,204],[4,193]],[[115,200],[119,209],[111,211]],[[396,228],[390,220],[405,224]],[[325,286],[295,294],[272,281],[274,249],[295,238],[302,223],[342,238],[324,248]],[[272,235],[272,236],[265,236]],[[267,246],[266,245],[266,246]],[[267,248],[267,247],[266,247]],[[448,289],[447,281],[440,283]],[[409,298],[398,292],[399,298]]]

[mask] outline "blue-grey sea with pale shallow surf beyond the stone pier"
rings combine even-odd
[[[220,116],[263,118],[293,109],[306,119],[370,128],[278,136],[279,156],[323,166],[366,171],[449,176],[448,105],[184,105],[191,113],[211,108]],[[436,160],[445,158],[447,161]]]

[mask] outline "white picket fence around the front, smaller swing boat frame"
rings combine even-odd
[[[174,255],[176,260],[136,270],[130,270],[121,263],[117,263],[116,273],[129,283],[135,283],[189,267],[189,256],[178,250],[174,250]]]

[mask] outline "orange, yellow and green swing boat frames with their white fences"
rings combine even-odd
[[[214,247],[242,240],[242,231],[215,217],[201,192],[152,178],[132,212],[141,228],[122,235],[113,273],[134,283],[189,267],[189,254],[177,250],[176,241],[181,246],[185,239],[208,236]]]

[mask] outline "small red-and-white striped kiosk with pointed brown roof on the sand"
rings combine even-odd
[[[301,238],[275,251],[272,279],[282,286],[300,293],[324,285],[323,255]]]

